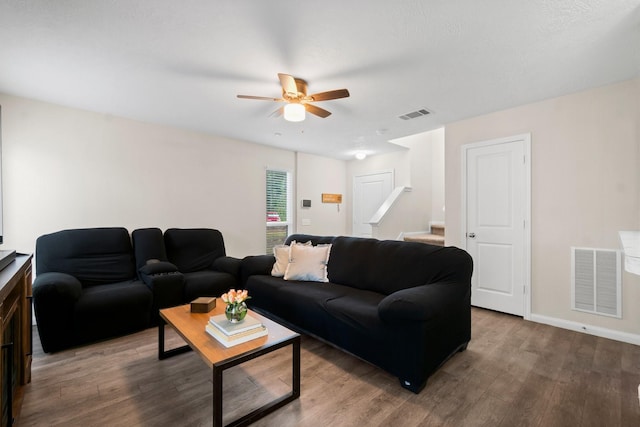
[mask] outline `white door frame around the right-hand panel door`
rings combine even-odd
[[[520,135],[508,136],[504,138],[496,138],[485,141],[472,142],[464,144],[460,147],[461,163],[460,169],[462,178],[460,185],[462,187],[462,200],[460,212],[461,224],[461,242],[462,249],[467,249],[467,153],[470,149],[486,147],[491,145],[508,144],[516,141],[524,143],[524,224],[523,224],[523,257],[524,257],[524,307],[523,318],[531,320],[531,134],[524,133]]]

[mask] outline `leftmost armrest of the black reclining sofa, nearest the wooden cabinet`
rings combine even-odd
[[[46,353],[73,345],[73,310],[81,294],[80,281],[69,274],[49,272],[36,276],[33,309]]]

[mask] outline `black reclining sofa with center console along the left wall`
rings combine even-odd
[[[156,324],[160,308],[219,296],[236,286],[240,260],[225,256],[219,231],[174,230],[191,238],[200,254],[200,262],[184,273],[182,264],[170,262],[158,228],[134,230],[131,236],[122,227],[40,236],[33,305],[43,350],[55,352],[145,329]],[[186,238],[172,250],[176,260],[194,253]],[[230,272],[216,271],[216,263]],[[198,268],[206,277],[192,286],[188,277]]]

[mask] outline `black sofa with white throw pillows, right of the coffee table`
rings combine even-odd
[[[469,254],[455,247],[356,237],[292,235],[331,244],[328,282],[271,275],[274,256],[241,266],[249,306],[358,356],[418,393],[471,339]]]

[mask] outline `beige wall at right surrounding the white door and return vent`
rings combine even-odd
[[[447,244],[461,244],[460,146],[531,133],[532,319],[631,334],[640,342],[640,277],[623,275],[623,318],[570,309],[570,247],[621,249],[640,229],[640,78],[446,127]]]

